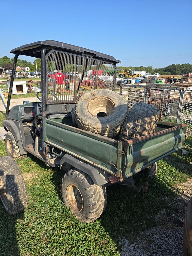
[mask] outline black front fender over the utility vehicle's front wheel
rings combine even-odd
[[[15,121],[15,120],[3,120],[2,125],[4,128],[7,128],[9,131],[12,132],[16,144],[19,146],[19,152],[21,155],[27,154],[27,152],[24,150],[23,145],[25,143],[25,136],[23,131],[23,126],[21,121]]]

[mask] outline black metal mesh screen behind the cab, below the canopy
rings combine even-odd
[[[92,89],[115,88],[112,63],[52,50],[46,56],[46,102],[76,102]]]

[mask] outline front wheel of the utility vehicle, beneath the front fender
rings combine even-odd
[[[12,158],[20,158],[21,155],[19,153],[19,147],[16,144],[16,140],[12,134],[12,132],[8,131],[5,136],[5,148],[7,151],[7,155]]]

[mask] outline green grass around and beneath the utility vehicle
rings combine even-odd
[[[0,123],[3,119],[0,113]],[[192,138],[186,140],[186,146],[192,147]],[[6,150],[0,143],[3,155]],[[174,213],[176,209],[166,197],[174,197],[173,187],[192,176],[191,155],[184,157],[178,152],[160,160],[159,173],[148,180],[146,193],[120,185],[107,188],[107,208],[101,218],[89,224],[77,221],[63,205],[62,170],[46,167],[32,155],[16,160],[22,173],[36,176],[26,182],[29,199],[24,213],[10,216],[0,204],[0,255],[118,255],[119,236],[131,239],[156,225],[154,216],[162,209],[167,215]],[[186,170],[179,167],[181,160],[189,164]],[[136,185],[145,180],[138,176]]]

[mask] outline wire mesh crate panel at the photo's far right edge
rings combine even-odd
[[[184,89],[179,123],[187,124],[186,136],[192,134],[192,87]]]

